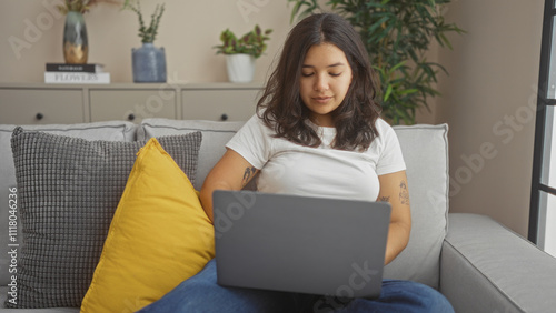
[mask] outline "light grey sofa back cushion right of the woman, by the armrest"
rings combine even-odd
[[[407,166],[411,235],[407,248],[385,269],[385,277],[438,287],[439,259],[447,233],[448,127],[394,127]]]

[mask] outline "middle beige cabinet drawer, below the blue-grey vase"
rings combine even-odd
[[[177,118],[176,90],[90,90],[91,121]]]

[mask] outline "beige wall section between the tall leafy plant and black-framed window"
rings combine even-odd
[[[542,0],[465,0],[447,18],[467,30],[440,51],[437,122],[450,128],[451,212],[484,213],[527,234]],[[532,107],[529,107],[532,105]]]

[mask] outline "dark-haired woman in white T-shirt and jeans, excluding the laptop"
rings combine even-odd
[[[407,245],[411,228],[405,163],[394,130],[379,119],[376,79],[354,28],[336,14],[306,18],[289,33],[252,117],[205,180],[212,191],[242,189],[257,173],[264,192],[388,201],[385,263]],[[378,300],[222,287],[210,261],[141,312],[453,312],[435,290],[383,282]]]

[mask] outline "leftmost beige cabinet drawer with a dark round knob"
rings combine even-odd
[[[83,123],[82,94],[81,90],[0,89],[0,123]]]

